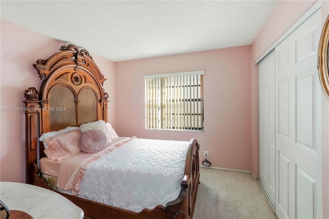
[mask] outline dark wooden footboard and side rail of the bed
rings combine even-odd
[[[39,168],[35,162],[30,163],[30,180],[28,183],[40,186],[46,189],[49,187],[40,176]],[[166,207],[157,206],[152,210],[144,209],[139,213],[127,211],[124,209],[104,205],[101,203],[87,200],[85,198],[60,193],[72,203],[79,206],[87,218],[163,218],[163,219],[179,219],[193,218],[194,206],[196,202],[196,194],[199,185],[199,144],[196,139],[191,139],[189,149],[186,155],[185,175],[181,182],[181,190],[177,199],[168,203]]]

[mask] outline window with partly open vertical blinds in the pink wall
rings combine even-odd
[[[146,129],[204,129],[204,71],[145,75]]]

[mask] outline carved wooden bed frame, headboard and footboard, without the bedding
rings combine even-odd
[[[37,60],[33,67],[43,81],[39,90],[29,87],[24,93],[26,182],[54,190],[56,188],[49,185],[44,177],[46,174],[40,170],[39,160],[45,160],[47,156],[45,146],[39,141],[39,137],[44,133],[63,130],[69,126],[79,127],[96,121],[108,124],[108,95],[102,87],[106,79],[89,52],[85,49],[79,50],[72,44],[62,46],[59,52],[46,60]],[[120,140],[113,145],[123,148],[128,147],[126,145],[130,142],[143,144],[144,140],[148,139],[127,137]],[[152,209],[133,211],[71,193],[60,194],[79,206],[84,211],[85,218],[192,218],[199,185],[199,144],[196,139],[191,139],[187,143],[182,163],[182,179],[176,191],[178,196],[165,204],[156,205]],[[109,154],[112,153],[114,152]]]

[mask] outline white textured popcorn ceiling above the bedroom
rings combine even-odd
[[[1,17],[112,61],[250,45],[276,1],[1,1]]]

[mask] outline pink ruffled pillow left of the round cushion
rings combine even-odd
[[[78,154],[81,152],[79,148],[80,136],[80,130],[75,129],[44,139],[49,146],[44,152],[49,159],[56,161],[61,161]]]

